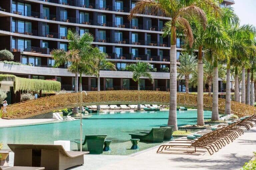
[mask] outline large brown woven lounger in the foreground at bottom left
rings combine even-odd
[[[89,152],[65,151],[62,145],[8,144],[14,152],[14,166],[45,167],[64,170],[84,164]]]

